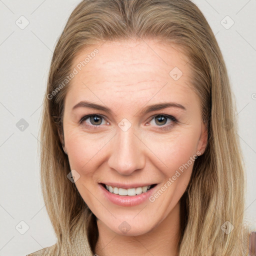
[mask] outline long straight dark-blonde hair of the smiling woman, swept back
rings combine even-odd
[[[214,34],[190,0],[83,0],[69,16],[51,60],[40,133],[41,187],[57,237],[53,254],[78,255],[73,242],[80,239],[89,245],[86,255],[93,255],[98,235],[95,215],[67,178],[70,167],[62,148],[62,116],[69,83],[59,85],[80,50],[106,40],[127,39],[177,45],[189,57],[191,85],[201,99],[201,117],[207,123],[207,147],[195,160],[181,198],[185,217],[179,255],[246,255],[245,177],[235,104]],[[233,229],[225,232],[227,227]]]

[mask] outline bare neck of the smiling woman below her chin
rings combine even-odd
[[[137,236],[118,235],[97,219],[98,239],[95,253],[98,256],[176,256],[180,238],[180,202],[149,232]]]

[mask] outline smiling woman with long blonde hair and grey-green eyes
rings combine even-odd
[[[41,182],[56,244],[29,255],[246,255],[226,67],[189,0],[84,0],[55,47]]]

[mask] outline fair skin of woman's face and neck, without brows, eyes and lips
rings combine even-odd
[[[80,175],[75,185],[97,217],[99,238],[94,253],[177,255],[182,221],[179,200],[188,185],[193,162],[153,202],[146,200],[135,206],[120,206],[104,199],[98,183],[142,181],[157,183],[159,189],[189,157],[203,153],[207,132],[199,98],[189,83],[192,73],[186,65],[188,59],[177,46],[153,40],[106,41],[80,51],[72,68],[95,47],[98,54],[71,80],[63,114],[63,149],[71,169]],[[183,73],[178,80],[169,75],[173,67]],[[112,113],[88,107],[72,110],[82,100],[107,106]],[[147,105],[169,101],[186,110],[167,107],[141,113]],[[102,118],[79,123],[87,114]],[[172,115],[178,122],[167,117],[159,122],[160,114]],[[123,118],[131,124],[125,132],[118,126]],[[169,129],[160,129],[168,125]],[[130,226],[125,234],[118,228],[123,221]]]

